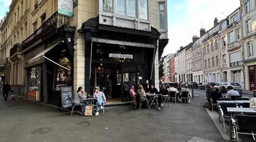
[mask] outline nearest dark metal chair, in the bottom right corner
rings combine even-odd
[[[234,137],[232,137],[231,129],[234,130]],[[233,118],[230,121],[230,141],[237,137],[237,142],[239,142],[238,134],[252,135],[255,140],[255,132],[256,116],[237,115],[237,122]]]

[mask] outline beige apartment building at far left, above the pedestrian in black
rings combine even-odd
[[[12,90],[25,93],[23,58],[19,55],[21,42],[28,37],[30,22],[30,1],[13,0],[9,12],[1,21],[1,47],[0,47],[0,66],[1,76],[5,76],[5,81],[9,82]],[[16,48],[13,51],[13,47]],[[17,53],[14,55],[14,53]],[[5,69],[5,72],[3,70]]]

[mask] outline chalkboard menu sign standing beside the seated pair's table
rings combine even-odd
[[[71,100],[73,99],[73,95],[72,95],[72,87],[71,86],[61,86],[60,87],[60,96],[61,96],[62,109],[72,107]]]

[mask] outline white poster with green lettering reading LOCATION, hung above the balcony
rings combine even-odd
[[[58,0],[58,13],[73,17],[73,0]]]

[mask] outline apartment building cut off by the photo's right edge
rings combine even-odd
[[[242,56],[245,90],[256,90],[256,1],[241,1]],[[236,72],[239,73],[240,72]],[[241,72],[242,77],[242,72]]]

